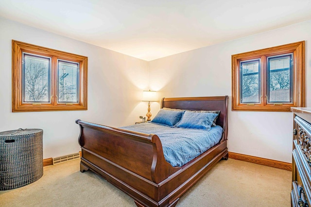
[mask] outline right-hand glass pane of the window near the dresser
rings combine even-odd
[[[291,55],[268,58],[269,102],[292,102]]]

